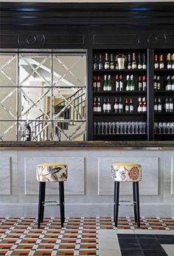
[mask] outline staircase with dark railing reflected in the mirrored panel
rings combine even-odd
[[[85,115],[85,92],[83,89],[77,90],[73,95],[69,98],[64,99],[59,104],[57,104],[53,109],[53,115],[55,116],[56,127],[54,128],[54,132],[69,130],[69,127],[76,126],[76,121],[84,120]],[[68,105],[68,102],[71,106]],[[67,106],[68,105],[68,106]],[[36,118],[35,121],[29,122],[29,125],[34,127],[35,129],[35,138],[37,141],[41,141],[41,139],[49,140],[51,129],[50,129],[50,118],[51,112],[47,112],[46,115],[40,115]],[[56,120],[56,117],[58,118]],[[48,121],[47,121],[48,120]],[[74,128],[75,129],[75,128]]]

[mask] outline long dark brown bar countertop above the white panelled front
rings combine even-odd
[[[174,141],[0,141],[1,148],[170,148]]]

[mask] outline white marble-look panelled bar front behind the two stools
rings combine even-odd
[[[0,150],[0,216],[37,216],[38,181],[35,167],[46,162],[69,166],[65,183],[66,217],[112,216],[114,183],[111,164],[142,164],[139,183],[142,216],[174,215],[173,149],[51,148]],[[120,184],[121,200],[132,200],[132,184]],[[46,200],[58,200],[58,183],[46,184]],[[133,216],[133,207],[119,207],[120,216]],[[45,216],[59,216],[46,207]]]

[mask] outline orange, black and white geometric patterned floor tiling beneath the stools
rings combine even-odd
[[[98,255],[98,230],[114,229],[111,218],[0,218],[0,255]],[[133,218],[119,218],[119,229],[138,229]],[[174,218],[142,218],[141,229],[174,229]]]

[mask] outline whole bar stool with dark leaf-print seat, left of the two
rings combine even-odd
[[[44,221],[44,206],[60,206],[61,227],[65,221],[64,209],[64,181],[68,178],[68,166],[66,164],[38,164],[36,167],[36,178],[39,181],[39,198],[38,198],[38,229]],[[59,202],[45,201],[46,182],[59,183]],[[50,204],[53,203],[53,204]]]

